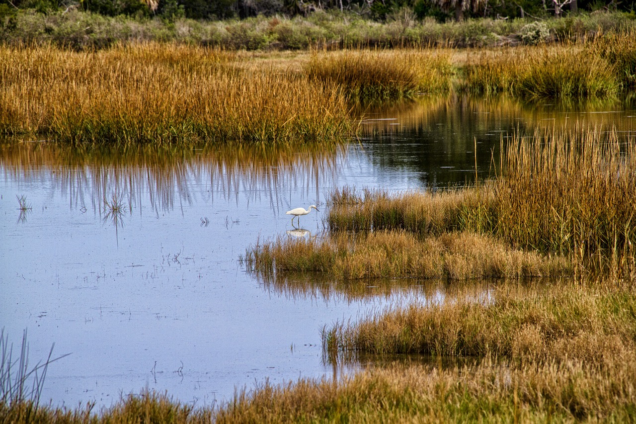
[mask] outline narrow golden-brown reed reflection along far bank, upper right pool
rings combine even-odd
[[[522,101],[508,95],[476,97],[445,95],[419,97],[415,101],[382,104],[357,111],[364,118],[362,136],[399,134],[404,131],[441,132],[452,140],[464,140],[472,148],[474,131],[510,128],[527,132],[536,129],[583,127],[634,131],[631,120],[617,119],[630,102],[616,99],[586,101]]]

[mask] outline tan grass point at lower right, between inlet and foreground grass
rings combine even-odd
[[[605,369],[636,353],[636,295],[570,285],[543,292],[504,287],[485,302],[394,307],[357,323],[324,329],[329,357],[347,352],[417,353],[567,362]]]

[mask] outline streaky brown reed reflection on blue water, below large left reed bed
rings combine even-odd
[[[270,202],[290,182],[319,183],[335,172],[340,146],[71,146],[7,140],[0,143],[0,166],[8,178],[51,187],[74,208],[104,209],[114,194],[128,208],[149,199],[153,211],[191,204],[208,186],[210,197],[254,198],[262,190]]]

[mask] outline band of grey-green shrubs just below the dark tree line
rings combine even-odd
[[[501,19],[489,14],[486,18],[459,22],[421,18],[410,8],[387,13],[382,20],[329,8],[307,16],[276,13],[202,20],[178,14],[162,17],[149,12],[141,16],[119,13],[109,16],[74,7],[17,9],[2,4],[3,1],[9,0],[0,0],[0,36],[4,43],[54,43],[76,50],[139,41],[177,41],[247,50],[298,50],[312,46],[501,46],[590,38],[598,32],[625,32],[636,26],[636,13],[604,8],[594,13],[570,13],[563,18],[511,15]],[[39,0],[39,4],[43,1]]]

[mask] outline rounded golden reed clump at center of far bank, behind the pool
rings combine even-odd
[[[412,97],[450,89],[448,55],[423,50],[344,50],[314,53],[306,70],[310,80],[335,83],[352,101]]]

